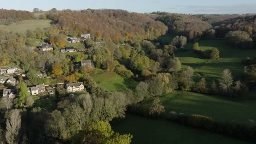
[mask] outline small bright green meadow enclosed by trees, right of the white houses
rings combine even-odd
[[[105,88],[109,92],[135,91],[138,82],[125,79],[116,73],[100,73],[92,75],[98,87]]]

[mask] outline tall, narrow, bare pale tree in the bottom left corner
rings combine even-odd
[[[21,115],[20,110],[11,110],[10,118],[6,122],[5,139],[9,144],[16,144],[19,142]]]

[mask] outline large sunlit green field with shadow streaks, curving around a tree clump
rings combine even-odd
[[[184,66],[190,66],[195,69],[197,78],[205,77],[206,80],[217,79],[224,69],[230,69],[235,80],[243,80],[244,73],[241,64],[242,59],[246,57],[255,57],[256,49],[235,49],[224,40],[200,40],[201,50],[212,49],[216,47],[220,51],[220,58],[217,60],[205,59],[192,52],[192,44],[185,45],[188,51],[179,51],[175,56],[181,60]]]

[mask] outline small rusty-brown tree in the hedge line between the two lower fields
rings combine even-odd
[[[150,115],[159,116],[165,112],[165,107],[161,104],[159,98],[154,98],[152,106],[149,108]]]

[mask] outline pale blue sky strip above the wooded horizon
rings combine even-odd
[[[193,14],[246,14],[256,13],[255,0],[8,0],[2,1],[0,8],[29,10],[39,8],[62,9],[124,9],[138,13],[167,11],[170,13]]]

